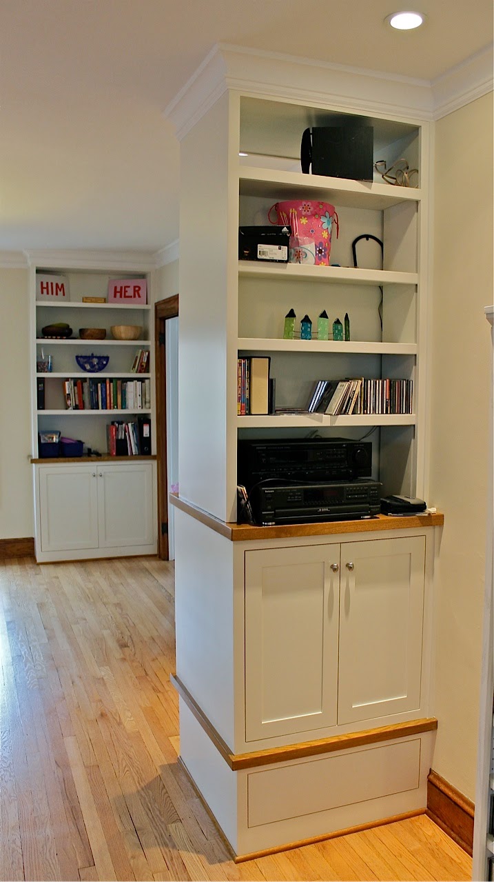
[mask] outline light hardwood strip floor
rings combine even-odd
[[[468,879],[421,816],[235,864],[177,762],[173,564],[0,562],[0,879]]]

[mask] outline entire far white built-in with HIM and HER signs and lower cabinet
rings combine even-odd
[[[68,296],[41,299],[36,293],[39,273],[63,275]],[[147,303],[108,303],[108,283],[115,279],[146,279]],[[31,265],[32,328],[32,451],[35,504],[35,548],[38,561],[87,557],[155,554],[157,550],[157,492],[154,396],[154,323],[151,264],[137,255],[95,252],[36,253]],[[83,298],[91,298],[84,300]],[[95,298],[103,303],[94,302]],[[47,339],[46,325],[65,322],[68,339]],[[113,325],[138,325],[137,340],[114,339]],[[104,340],[81,340],[79,328],[104,328]],[[149,350],[144,373],[131,370],[137,350]],[[79,367],[76,355],[108,355],[107,367],[90,373]],[[38,363],[51,357],[50,372]],[[64,384],[109,379],[110,385],[147,383],[150,400],[131,407],[67,407]],[[44,385],[44,402],[37,386]],[[122,400],[122,403],[123,400]],[[95,402],[91,402],[95,404]],[[151,454],[114,457],[108,450],[107,427],[112,421],[151,419]],[[44,458],[40,432],[58,430],[63,437],[84,443],[84,455],[74,460]],[[99,456],[88,456],[88,449]]]

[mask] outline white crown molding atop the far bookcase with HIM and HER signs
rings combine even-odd
[[[121,250],[26,250],[27,265],[65,269],[109,270],[148,273],[155,269],[153,251]]]

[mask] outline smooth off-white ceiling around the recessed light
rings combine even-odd
[[[1,0],[0,250],[159,250],[178,236],[163,109],[215,43],[434,80],[492,41],[491,0]],[[403,4],[402,8],[408,8]]]

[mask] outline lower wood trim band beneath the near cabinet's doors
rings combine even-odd
[[[285,744],[282,747],[270,747],[264,751],[235,754],[225,744],[223,738],[218,735],[217,730],[203,714],[203,711],[197,705],[195,699],[192,698],[188,689],[181,683],[180,678],[176,674],[171,674],[170,682],[233,772],[238,772],[240,769],[256,768],[257,766],[270,766],[273,763],[287,762],[291,759],[317,756],[320,753],[345,751],[351,747],[361,747],[364,744],[378,744],[381,741],[391,741],[394,738],[417,735],[419,732],[431,732],[438,728],[438,721],[434,717],[428,717],[421,720],[394,723],[390,726],[381,726],[379,729],[365,729],[359,732],[348,732],[346,735],[319,738],[317,741]]]

